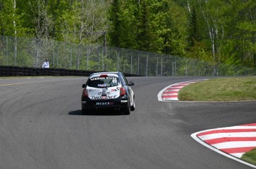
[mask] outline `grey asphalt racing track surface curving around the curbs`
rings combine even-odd
[[[131,115],[82,115],[86,79],[0,80],[0,168],[250,168],[190,135],[255,123],[256,102],[159,102],[166,86],[200,77],[128,77],[135,83]]]

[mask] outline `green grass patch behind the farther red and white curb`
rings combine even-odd
[[[180,89],[179,100],[256,100],[256,77],[223,77],[191,83]]]

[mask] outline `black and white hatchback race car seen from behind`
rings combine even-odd
[[[89,76],[82,85],[82,113],[113,108],[130,114],[135,110],[134,82],[128,83],[121,72],[99,72]]]

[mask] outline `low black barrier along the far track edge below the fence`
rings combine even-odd
[[[19,66],[0,66],[0,77],[13,76],[89,76],[96,71],[73,70],[73,69],[44,69]],[[125,76],[138,76],[124,73]]]

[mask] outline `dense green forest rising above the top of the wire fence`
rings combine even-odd
[[[255,0],[0,0],[0,33],[256,68]]]

